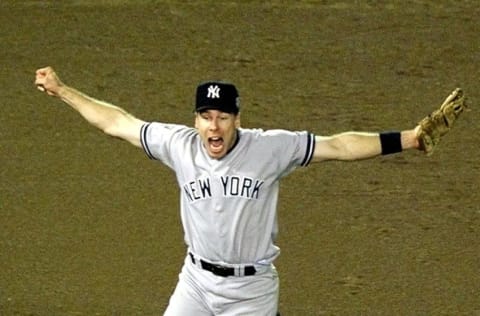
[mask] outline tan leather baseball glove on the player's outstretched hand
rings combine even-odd
[[[448,133],[458,116],[465,111],[465,95],[457,88],[445,99],[439,109],[422,119],[418,125],[417,138],[420,149],[431,155],[443,135]]]

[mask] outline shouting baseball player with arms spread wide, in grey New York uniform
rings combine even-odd
[[[326,160],[431,153],[465,108],[457,89],[414,129],[315,136],[242,128],[239,95],[227,82],[198,85],[194,127],[143,121],[65,85],[51,67],[37,70],[35,84],[175,172],[187,251],[168,316],[277,315],[280,179]]]

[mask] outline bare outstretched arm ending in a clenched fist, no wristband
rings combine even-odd
[[[122,108],[89,97],[65,85],[51,67],[36,71],[35,85],[40,91],[60,98],[80,113],[87,122],[104,133],[141,147],[140,129],[145,122]]]

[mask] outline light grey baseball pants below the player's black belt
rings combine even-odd
[[[186,257],[164,316],[275,316],[279,279],[273,265],[252,276],[217,276]]]

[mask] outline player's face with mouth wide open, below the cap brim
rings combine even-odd
[[[235,144],[236,130],[240,127],[240,114],[207,110],[196,114],[195,127],[208,155],[220,159]]]

